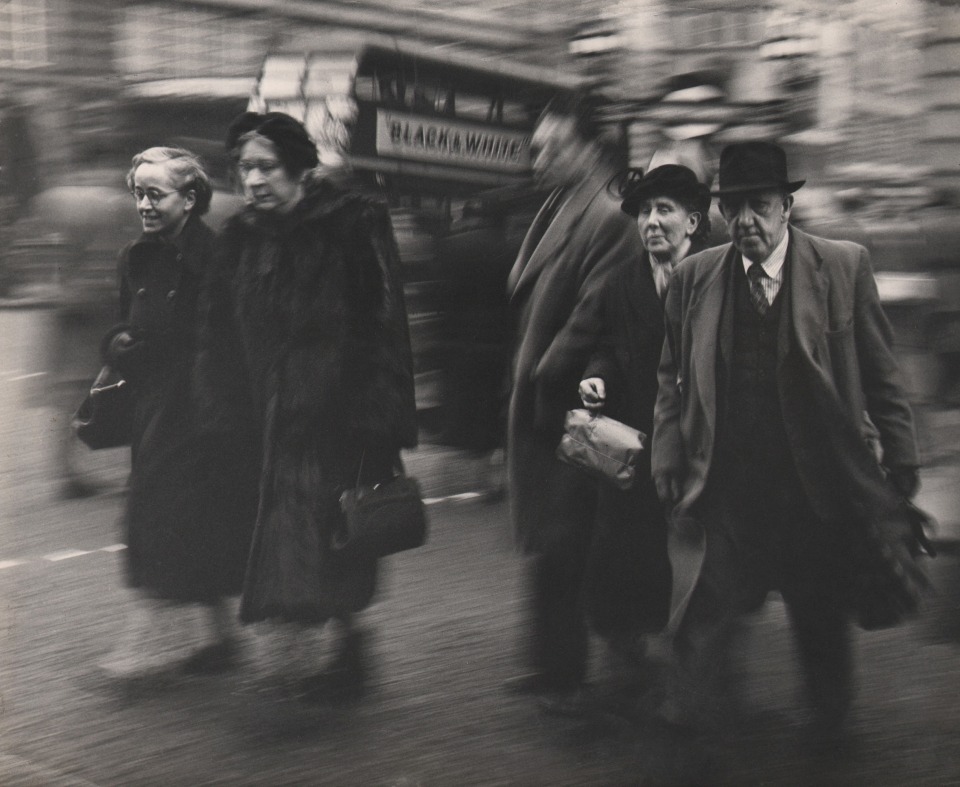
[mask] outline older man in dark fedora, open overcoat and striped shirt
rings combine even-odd
[[[737,622],[776,590],[826,742],[852,698],[858,525],[915,494],[919,462],[867,251],[790,224],[803,184],[772,143],[721,153],[732,242],[671,279],[651,460],[675,521],[706,535],[663,714],[716,720]]]

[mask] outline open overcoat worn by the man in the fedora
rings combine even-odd
[[[854,243],[792,226],[789,233],[788,319],[777,362],[789,449],[818,517],[882,517],[899,500],[878,453],[889,468],[916,467],[919,460],[869,257]],[[680,479],[678,511],[694,517],[712,469],[718,386],[730,379],[730,271],[740,260],[730,244],[688,257],[667,295],[652,465],[655,476]]]

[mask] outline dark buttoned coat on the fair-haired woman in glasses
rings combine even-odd
[[[237,593],[256,495],[230,457],[242,443],[201,428],[193,398],[197,305],[214,260],[213,233],[191,218],[173,241],[143,235],[120,254],[123,322],[103,342],[135,394],[124,515],[130,583],[159,598],[212,601]],[[129,332],[134,343],[111,349]]]

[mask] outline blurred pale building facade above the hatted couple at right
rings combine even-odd
[[[632,163],[670,150],[715,164],[759,136],[819,182],[960,195],[957,0],[619,0],[608,14]]]

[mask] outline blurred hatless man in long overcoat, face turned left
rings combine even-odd
[[[583,708],[592,629],[611,647],[637,629],[633,574],[621,545],[598,524],[597,487],[556,457],[568,410],[601,335],[600,304],[611,274],[643,254],[634,221],[607,191],[615,174],[592,99],[551,103],[531,152],[539,185],[552,192],[508,280],[516,328],[508,427],[511,513],[530,556],[532,672],[508,689],[537,695],[545,710]]]

